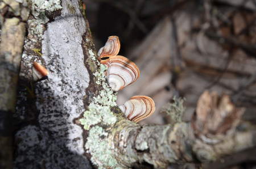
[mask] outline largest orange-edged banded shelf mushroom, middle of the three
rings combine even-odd
[[[108,67],[106,77],[109,86],[114,90],[121,90],[123,87],[135,82],[139,77],[139,69],[126,57],[112,56],[107,60],[102,60],[101,64]]]

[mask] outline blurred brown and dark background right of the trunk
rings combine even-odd
[[[190,121],[205,91],[229,94],[243,119],[256,122],[255,0],[84,0],[96,49],[119,36],[119,55],[139,67],[136,82],[118,92],[120,105],[135,95],[150,96],[156,111],[140,124],[174,122],[164,107],[186,98]],[[161,110],[163,110],[162,113]],[[169,168],[256,168],[256,149],[212,164]]]

